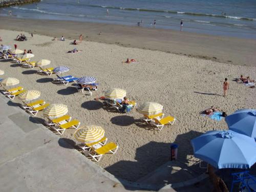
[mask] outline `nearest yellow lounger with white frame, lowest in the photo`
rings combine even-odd
[[[97,149],[94,149],[91,147],[92,151],[89,153],[89,156],[91,156],[95,161],[99,161],[101,157],[106,153],[113,153],[115,154],[118,150],[118,145],[116,143],[108,143],[102,147],[99,147]]]

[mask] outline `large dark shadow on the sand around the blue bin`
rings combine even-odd
[[[170,145],[172,143],[150,141],[136,149],[136,161],[122,160],[105,169],[117,179],[120,178],[119,181],[129,190],[143,189],[139,185],[135,188],[125,186],[127,180],[128,182],[155,185],[155,190],[159,190],[167,184],[194,179],[204,173],[206,169],[199,168],[198,164],[188,167],[186,165],[189,161],[187,155],[193,155],[190,140],[201,134],[200,132],[189,131],[177,136],[174,141],[179,145],[177,161],[170,161]],[[192,185],[191,187],[195,186]]]

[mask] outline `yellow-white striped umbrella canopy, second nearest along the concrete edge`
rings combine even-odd
[[[50,119],[55,119],[66,115],[68,113],[68,106],[65,104],[51,104],[44,111],[44,116]]]

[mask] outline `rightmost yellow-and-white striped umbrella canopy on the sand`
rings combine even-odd
[[[143,115],[156,115],[162,113],[163,105],[155,102],[145,102],[138,107],[138,112]]]

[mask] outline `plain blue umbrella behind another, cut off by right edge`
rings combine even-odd
[[[229,130],[256,139],[256,110],[238,110],[227,116],[225,121]]]

